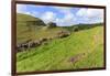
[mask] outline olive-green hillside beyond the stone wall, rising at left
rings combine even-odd
[[[28,40],[37,40],[45,36],[54,36],[57,31],[64,30],[63,28],[46,29],[46,25],[28,25],[28,21],[43,22],[42,20],[32,15],[18,13],[16,14],[16,43],[23,43]]]

